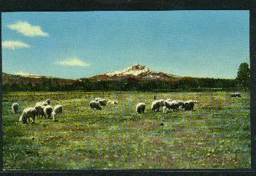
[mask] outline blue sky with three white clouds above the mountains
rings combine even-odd
[[[4,12],[2,70],[91,77],[143,64],[235,78],[249,63],[249,11]]]

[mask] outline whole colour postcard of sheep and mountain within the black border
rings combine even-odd
[[[2,12],[4,170],[251,168],[249,10]]]

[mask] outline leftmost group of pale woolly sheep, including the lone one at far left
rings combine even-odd
[[[27,123],[30,122],[30,118],[32,118],[32,124],[35,123],[36,117],[42,119],[47,118],[47,119],[52,119],[54,122],[57,122],[56,120],[56,115],[57,114],[62,114],[63,112],[63,106],[62,105],[56,105],[56,106],[51,106],[51,101],[47,99],[46,101],[38,102],[36,103],[36,106],[34,107],[28,107],[23,110],[21,116],[20,116],[20,122]],[[14,114],[17,114],[19,109],[19,104],[14,103],[12,104],[12,111]]]

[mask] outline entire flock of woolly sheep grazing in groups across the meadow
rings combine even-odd
[[[231,97],[241,97],[241,93],[231,93]],[[156,96],[154,96],[154,99],[156,99]],[[188,101],[181,101],[181,100],[172,100],[172,99],[159,99],[152,102],[151,109],[153,112],[160,112],[160,109],[162,108],[162,112],[168,113],[171,110],[173,111],[191,111],[194,109],[194,105],[199,103],[199,101],[196,100],[188,100]],[[63,112],[63,106],[62,105],[56,105],[51,106],[51,101],[47,99],[43,102],[36,103],[36,106],[34,107],[28,107],[23,110],[21,116],[20,116],[20,122],[27,123],[30,122],[30,118],[32,118],[33,122],[35,123],[35,119],[37,118],[47,118],[52,119],[54,122],[57,122],[56,115],[62,114]],[[102,98],[96,98],[93,101],[90,102],[89,106],[91,109],[98,109],[102,110],[102,106],[107,106],[107,104],[117,104],[117,101],[107,101],[106,99]],[[14,114],[17,114],[19,109],[19,104],[14,103],[12,104],[12,111]],[[145,112],[146,104],[144,102],[141,102],[136,105],[136,112],[138,114],[142,114]]]

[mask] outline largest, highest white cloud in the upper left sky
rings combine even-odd
[[[38,25],[30,25],[28,22],[18,21],[15,24],[8,25],[8,28],[12,30],[17,30],[18,33],[22,33],[28,37],[36,37],[36,36],[49,36],[48,33],[41,30],[41,27]]]

